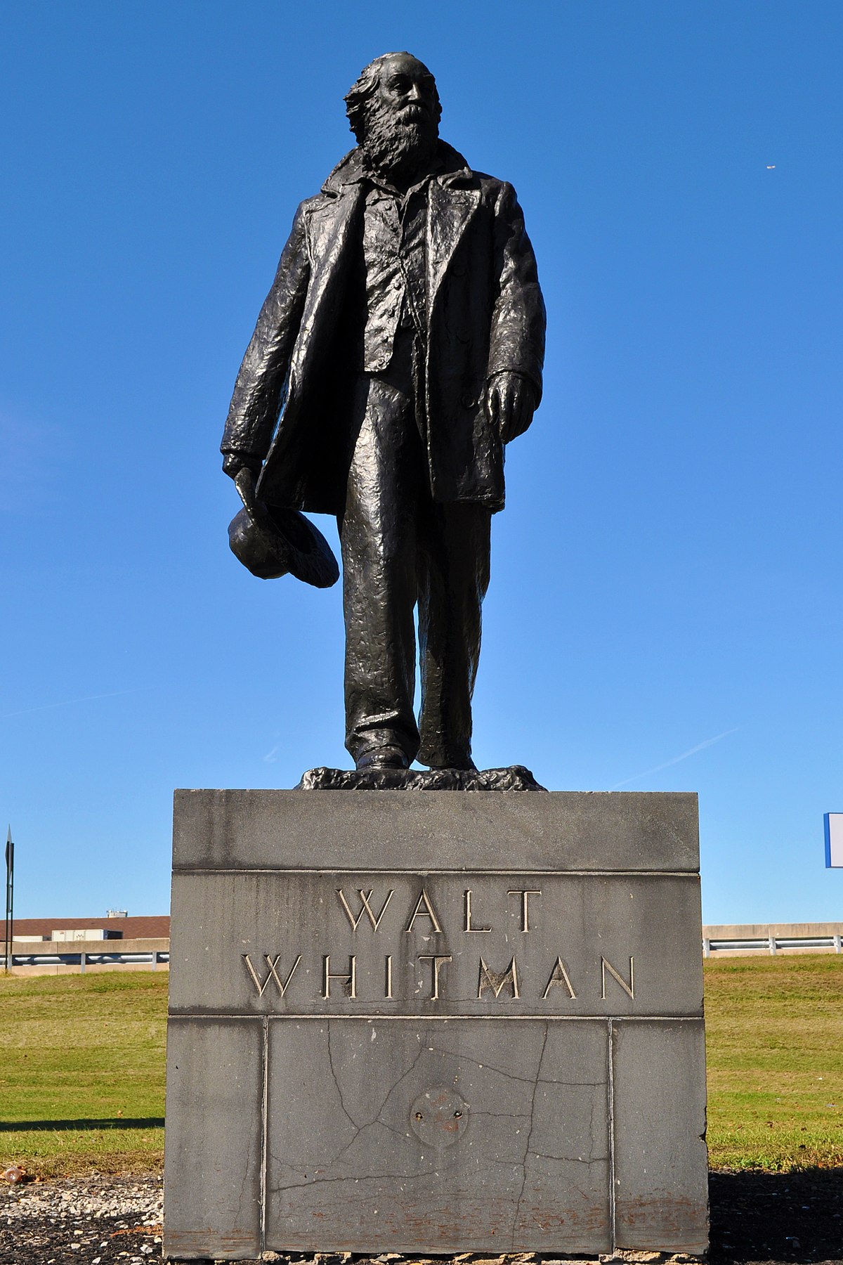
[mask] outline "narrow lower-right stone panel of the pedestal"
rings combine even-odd
[[[708,1250],[703,1022],[618,1022],[613,1034],[617,1246]]]

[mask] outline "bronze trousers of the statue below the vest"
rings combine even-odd
[[[373,748],[398,746],[431,768],[470,768],[490,511],[432,500],[412,377],[404,343],[389,369],[360,373],[353,387],[354,439],[339,516],[345,745],[355,760]]]

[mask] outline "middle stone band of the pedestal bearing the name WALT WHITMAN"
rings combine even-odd
[[[522,930],[525,898],[519,889],[532,889],[527,932]],[[369,893],[379,920],[377,934],[363,910],[361,891]],[[412,920],[422,892],[428,904],[422,902]],[[356,996],[331,988],[334,1008],[349,1016],[360,1011],[420,1017],[485,1015],[487,990],[478,998],[480,959],[497,972],[514,959],[519,996],[507,996],[508,1013],[540,1018],[703,1015],[699,888],[690,874],[525,875],[516,869],[503,875],[384,874],[336,869],[293,878],[283,870],[252,870],[209,873],[200,883],[195,874],[178,873],[173,875],[172,912],[173,1015],[324,1015],[326,954],[331,972],[348,972],[350,956],[355,958]],[[468,932],[466,912],[473,927]],[[351,918],[360,915],[355,931]],[[267,955],[277,960],[282,982],[301,959],[283,996],[272,978],[258,994],[246,954],[262,975],[267,974]],[[393,999],[384,997],[387,954],[392,956]],[[432,966],[420,961],[420,954],[451,959],[440,966],[439,998],[431,997]],[[557,956],[570,988],[556,969]],[[604,963],[627,985],[634,975],[634,998]],[[555,969],[555,983],[542,999]],[[507,994],[511,992],[508,987]]]

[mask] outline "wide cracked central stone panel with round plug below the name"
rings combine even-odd
[[[270,1021],[277,1251],[605,1251],[608,1027]]]

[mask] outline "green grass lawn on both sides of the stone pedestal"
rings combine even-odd
[[[167,973],[0,975],[0,1166],[143,1173],[164,1145]],[[705,963],[712,1168],[843,1168],[843,955]]]

